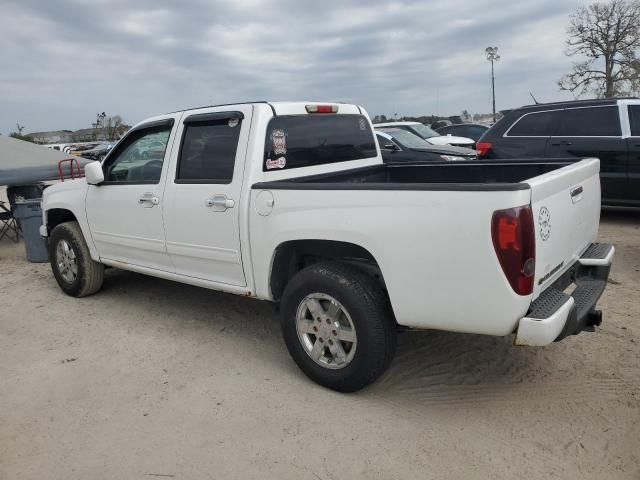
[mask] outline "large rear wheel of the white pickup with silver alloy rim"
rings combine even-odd
[[[337,262],[298,272],[281,302],[281,326],[291,357],[313,381],[354,392],[387,369],[396,325],[375,279]]]

